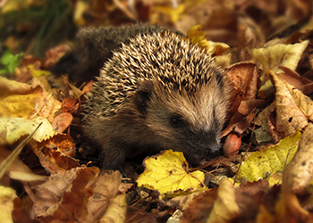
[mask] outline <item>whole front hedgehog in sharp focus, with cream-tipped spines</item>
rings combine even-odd
[[[104,169],[132,151],[172,149],[215,158],[229,101],[224,70],[173,32],[138,35],[100,70],[84,104],[84,135]]]

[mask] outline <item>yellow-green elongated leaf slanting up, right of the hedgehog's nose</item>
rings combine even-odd
[[[258,181],[266,175],[274,174],[276,171],[283,171],[285,163],[292,161],[294,153],[298,149],[298,141],[301,133],[298,130],[292,136],[282,139],[277,145],[263,149],[260,152],[251,153],[241,165],[238,178],[247,178],[248,181]],[[286,161],[287,154],[288,161]]]

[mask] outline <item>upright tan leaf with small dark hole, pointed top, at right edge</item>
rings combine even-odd
[[[290,136],[297,129],[308,125],[313,119],[313,101],[300,90],[272,73],[276,88],[276,130]]]

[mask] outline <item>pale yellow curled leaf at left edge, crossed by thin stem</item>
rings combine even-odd
[[[55,129],[52,128],[49,121],[45,118],[38,117],[33,120],[21,118],[0,118],[0,144],[12,145],[19,140],[21,136],[30,135],[41,123],[32,138],[38,142],[55,135]]]

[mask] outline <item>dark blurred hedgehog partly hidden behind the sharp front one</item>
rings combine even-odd
[[[157,25],[134,24],[121,27],[83,28],[76,35],[72,49],[50,69],[55,75],[68,74],[71,82],[89,81],[99,75],[104,62],[123,44],[138,34],[152,34],[165,29]]]

